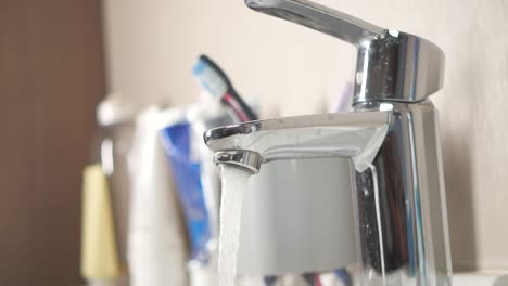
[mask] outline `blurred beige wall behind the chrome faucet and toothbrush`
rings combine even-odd
[[[216,58],[263,117],[323,112],[353,79],[355,50],[254,13],[242,0],[104,0],[109,82],[140,105],[191,103],[196,56]],[[441,109],[456,268],[508,269],[508,2],[321,0],[420,35],[446,54]]]

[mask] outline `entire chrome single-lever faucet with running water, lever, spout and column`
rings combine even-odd
[[[442,50],[305,0],[245,3],[355,44],[354,112],[208,130],[215,161],[257,173],[272,160],[350,158],[361,284],[452,285],[437,110],[427,99],[442,88]]]

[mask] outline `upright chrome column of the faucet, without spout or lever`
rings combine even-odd
[[[429,101],[355,106],[379,108],[390,127],[353,186],[364,284],[452,285],[437,112]]]

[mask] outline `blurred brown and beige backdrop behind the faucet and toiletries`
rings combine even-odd
[[[508,2],[320,0],[446,55],[440,109],[454,270],[508,269]],[[79,285],[96,105],[190,104],[201,53],[261,117],[327,112],[355,49],[241,0],[0,1],[0,285]]]

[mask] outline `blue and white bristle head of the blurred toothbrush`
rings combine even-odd
[[[220,98],[228,91],[228,83],[204,58],[200,58],[192,68],[192,75],[214,96]]]

